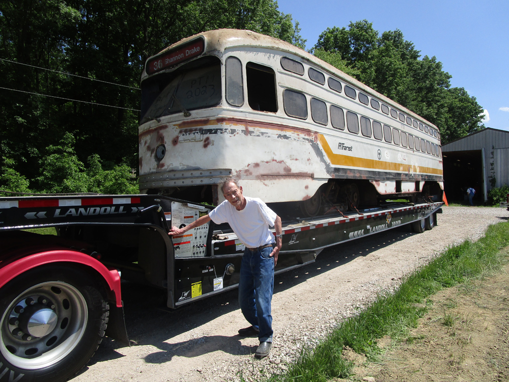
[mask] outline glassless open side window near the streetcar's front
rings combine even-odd
[[[247,102],[252,110],[277,112],[274,70],[268,66],[248,62],[246,65],[246,79]]]

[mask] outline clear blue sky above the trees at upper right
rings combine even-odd
[[[486,127],[509,130],[509,0],[278,0],[298,20],[306,49],[328,27],[366,19],[381,34],[399,29],[421,56],[435,56],[489,114]]]

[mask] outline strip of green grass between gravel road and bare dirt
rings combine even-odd
[[[380,353],[377,340],[408,337],[408,329],[426,312],[422,302],[442,288],[482,277],[499,269],[507,261],[501,249],[509,245],[509,224],[490,226],[486,236],[476,242],[465,241],[441,253],[407,277],[397,290],[381,291],[375,302],[358,315],[341,322],[315,349],[303,346],[300,357],[284,374],[265,378],[270,382],[326,382],[347,378],[352,364],[342,359],[344,346],[376,359]],[[415,306],[415,304],[421,304]],[[456,317],[444,312],[443,323],[452,325]]]

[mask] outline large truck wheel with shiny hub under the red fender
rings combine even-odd
[[[0,382],[66,381],[94,355],[108,315],[93,277],[78,267],[48,264],[18,276],[0,289]]]

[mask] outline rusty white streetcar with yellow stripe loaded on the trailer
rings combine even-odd
[[[139,170],[142,193],[216,204],[233,177],[267,203],[301,201],[304,216],[443,189],[436,126],[289,43],[237,30],[147,60]]]

